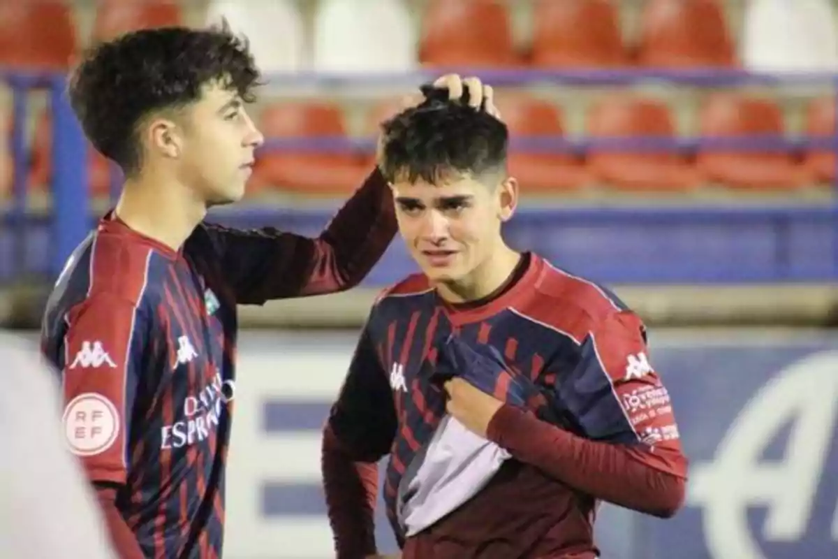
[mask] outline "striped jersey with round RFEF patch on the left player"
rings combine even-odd
[[[145,556],[221,556],[235,402],[236,305],[354,286],[396,233],[379,173],[318,239],[201,224],[179,251],[111,215],[47,303],[65,431]]]

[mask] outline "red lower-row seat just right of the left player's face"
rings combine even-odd
[[[269,141],[341,138],[346,134],[342,111],[326,102],[277,102],[266,106],[260,122]],[[354,153],[266,148],[256,158],[254,179],[257,188],[271,185],[298,194],[344,196],[357,188],[369,171]]]

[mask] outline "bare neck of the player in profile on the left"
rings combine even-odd
[[[129,179],[116,203],[116,216],[132,230],[178,251],[204,219],[206,205],[181,184],[151,177]]]

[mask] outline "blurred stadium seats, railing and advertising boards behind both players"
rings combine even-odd
[[[79,50],[222,17],[270,76],[253,111],[269,140],[213,219],[317,235],[396,100],[480,75],[524,194],[505,235],[649,324],[692,461],[674,520],[603,506],[603,557],[838,556],[833,0],[0,0],[6,326],[38,328],[119,192],[63,96]],[[372,298],[413,271],[396,241],[360,289],[241,308],[225,556],[333,555],[319,428]]]

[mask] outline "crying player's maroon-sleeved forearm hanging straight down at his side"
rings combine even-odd
[[[338,559],[375,555],[377,463],[354,462],[327,426],[323,430],[321,469]]]

